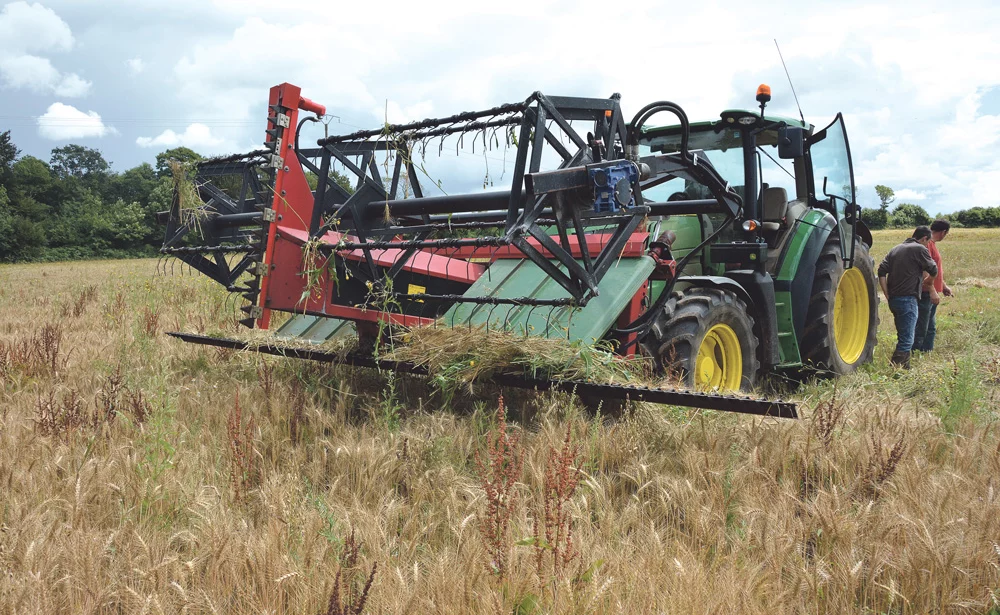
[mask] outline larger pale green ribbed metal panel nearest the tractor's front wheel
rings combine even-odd
[[[442,320],[452,327],[485,326],[490,330],[594,343],[608,332],[654,267],[653,259],[648,256],[619,259],[601,280],[600,294],[583,308],[462,303],[448,310]],[[569,297],[537,265],[514,259],[490,265],[465,295],[503,299]]]

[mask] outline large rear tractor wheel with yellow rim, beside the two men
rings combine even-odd
[[[820,252],[802,333],[802,362],[834,375],[872,360],[878,331],[878,281],[868,246],[855,239],[854,267],[844,269],[836,229]]]

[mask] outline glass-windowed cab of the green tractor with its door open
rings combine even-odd
[[[690,124],[689,149],[710,163],[742,198],[741,224],[720,241],[765,243],[767,269],[774,273],[796,223],[811,209],[829,212],[836,220],[843,246],[842,258],[853,259],[857,232],[854,178],[850,149],[840,114],[826,128],[814,132],[804,121],[762,115],[747,110],[723,111],[720,119]],[[640,152],[669,154],[680,151],[680,126],[644,129]],[[648,201],[710,199],[708,188],[690,179],[668,179],[644,186]],[[724,216],[700,214],[706,230]],[[864,229],[861,229],[865,234]],[[864,237],[870,244],[870,238]]]

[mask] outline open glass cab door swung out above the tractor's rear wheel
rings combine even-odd
[[[840,256],[846,267],[854,266],[854,236],[857,233],[858,207],[855,200],[854,169],[851,148],[840,113],[829,126],[808,140],[812,162],[816,204],[837,218],[840,232]]]

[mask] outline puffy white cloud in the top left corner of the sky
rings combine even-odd
[[[31,52],[68,51],[69,26],[52,9],[13,2],[0,11],[0,83],[74,98],[85,96],[91,83],[79,75],[60,74],[48,58]]]

